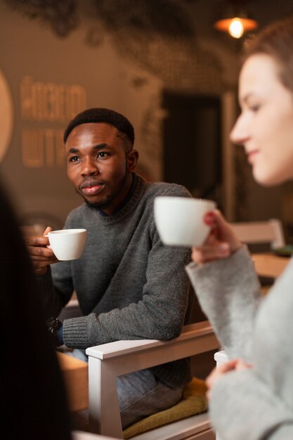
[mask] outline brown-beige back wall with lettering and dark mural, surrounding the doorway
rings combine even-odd
[[[171,2],[176,3],[180,1]],[[211,31],[212,3],[182,2],[195,27],[191,39],[141,32],[138,44],[133,30],[125,32],[127,22],[122,18],[129,18],[127,11],[120,28],[119,15],[113,16],[117,30],[110,32],[99,20],[94,2],[78,0],[79,26],[66,37],[58,37],[48,24],[27,18],[0,1],[0,172],[20,216],[45,216],[52,222],[56,217],[63,224],[70,209],[80,204],[67,180],[60,140],[79,106],[113,108],[129,117],[136,130],[142,168],[151,179],[162,179],[162,90],[211,93],[223,99],[227,92],[236,91],[239,47]],[[169,18],[165,15],[164,20]],[[11,93],[13,117],[9,117],[1,78]],[[32,92],[37,93],[34,98]],[[40,95],[41,101],[37,101]],[[66,100],[71,105],[65,104]],[[223,143],[233,123],[228,112]],[[8,119],[13,129],[6,141]],[[1,154],[3,143],[8,148]],[[230,219],[235,219],[235,214],[240,219],[280,215],[280,188],[257,187],[247,177],[247,170],[243,180],[236,170],[235,181],[230,174],[235,172],[234,162],[223,163],[223,198],[228,198]],[[245,194],[245,205],[241,194]]]

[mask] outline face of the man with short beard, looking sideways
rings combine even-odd
[[[136,150],[129,151],[122,134],[105,123],[78,125],[67,137],[65,148],[67,175],[77,193],[88,205],[112,214],[131,186]]]

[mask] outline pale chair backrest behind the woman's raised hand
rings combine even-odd
[[[240,241],[249,244],[268,243],[271,249],[285,245],[282,224],[279,219],[247,221],[231,224]]]

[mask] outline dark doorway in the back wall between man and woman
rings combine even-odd
[[[221,207],[221,100],[164,91],[164,181]]]

